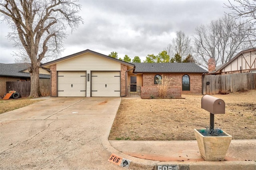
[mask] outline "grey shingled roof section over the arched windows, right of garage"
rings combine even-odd
[[[134,73],[207,73],[195,63],[133,63]]]

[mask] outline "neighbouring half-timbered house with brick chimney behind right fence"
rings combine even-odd
[[[256,48],[246,49],[234,56],[230,61],[215,67],[214,58],[208,61],[209,73],[232,74],[232,73],[256,73]]]

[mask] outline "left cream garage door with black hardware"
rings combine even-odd
[[[86,72],[58,72],[58,97],[86,97]]]

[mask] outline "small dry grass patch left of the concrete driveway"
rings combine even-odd
[[[31,105],[32,103],[36,103],[38,101],[40,100],[31,100],[26,98],[9,100],[0,99],[0,114]]]

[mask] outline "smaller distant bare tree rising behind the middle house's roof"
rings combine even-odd
[[[182,59],[185,59],[193,51],[191,39],[184,32],[178,31],[176,32],[176,38],[172,39],[172,43],[168,45],[166,51],[170,56],[177,53]]]

